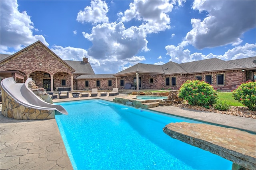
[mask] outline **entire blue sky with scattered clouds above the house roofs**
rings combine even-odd
[[[256,56],[255,0],[0,0],[0,53],[40,40],[96,74]]]

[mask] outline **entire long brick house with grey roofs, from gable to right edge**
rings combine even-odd
[[[18,71],[25,75],[24,80],[31,77],[38,87],[48,91],[58,87],[72,91],[127,87],[177,90],[186,80],[193,79],[204,80],[219,90],[234,90],[240,83],[255,80],[255,69],[255,57],[230,61],[212,58],[181,64],[138,63],[116,74],[95,74],[87,58],[62,60],[40,41],[13,55],[0,55],[0,71]]]

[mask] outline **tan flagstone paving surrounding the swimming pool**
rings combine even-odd
[[[113,101],[115,96],[56,99],[54,102],[95,98]],[[0,111],[1,107],[0,104]],[[255,119],[172,106],[152,110],[255,133]],[[0,169],[73,169],[55,119],[17,120],[0,114],[0,135]]]

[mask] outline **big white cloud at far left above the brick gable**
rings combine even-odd
[[[11,48],[16,52],[38,40],[46,46],[49,45],[42,35],[33,35],[33,30],[38,31],[38,29],[34,27],[26,11],[18,10],[16,0],[1,0],[0,11],[1,53],[10,53]]]

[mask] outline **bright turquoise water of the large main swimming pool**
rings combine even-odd
[[[68,115],[56,115],[74,169],[231,169],[232,162],[163,132],[187,121],[105,100],[59,102]]]

